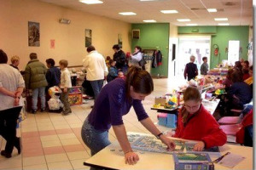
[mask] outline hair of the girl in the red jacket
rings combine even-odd
[[[189,100],[194,100],[195,102],[201,101],[201,93],[200,93],[199,89],[189,86],[183,94],[183,100],[184,100],[184,102],[189,101]],[[181,111],[183,123],[187,122],[188,115],[189,115],[189,111],[187,111],[186,108],[183,107],[183,109]]]

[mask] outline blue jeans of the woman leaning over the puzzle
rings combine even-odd
[[[97,152],[111,144],[108,139],[108,131],[96,130],[92,125],[90,125],[87,118],[84,121],[81,136],[84,144],[90,148],[91,156],[94,156]],[[90,167],[90,170],[96,169],[98,168]]]

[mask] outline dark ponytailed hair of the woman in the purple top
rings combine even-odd
[[[143,71],[137,66],[131,66],[126,74],[125,89],[128,99],[131,99],[131,86],[138,94],[151,94],[154,90],[154,83],[148,71]]]

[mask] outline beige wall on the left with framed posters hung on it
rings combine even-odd
[[[71,24],[60,24],[61,18],[71,20]],[[28,21],[40,23],[40,47],[28,47]],[[43,62],[48,58],[57,63],[67,59],[69,65],[81,65],[87,54],[85,29],[92,30],[92,44],[105,57],[113,56],[112,47],[119,33],[123,38],[123,50],[131,51],[131,24],[38,0],[0,0],[0,48],[9,58],[20,56],[20,70],[24,70],[32,52]],[[55,49],[50,48],[50,39],[55,39]]]

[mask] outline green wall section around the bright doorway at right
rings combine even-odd
[[[198,32],[195,32],[197,30]],[[247,44],[249,39],[249,26],[179,26],[179,35],[212,35],[212,45],[218,44],[218,56],[214,55],[211,47],[211,68],[216,67],[223,59],[228,59],[225,48],[229,47],[230,40],[239,40],[240,58],[247,59]]]

